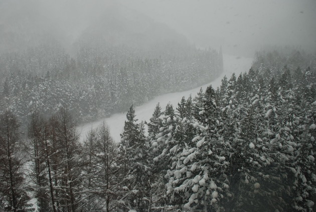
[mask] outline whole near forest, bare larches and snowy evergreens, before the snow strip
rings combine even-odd
[[[130,106],[119,143],[106,123],[80,143],[64,108],[49,117],[32,110],[23,139],[5,110],[1,210],[315,210],[315,55],[301,66],[284,58],[258,52],[219,88],[165,110],[158,103],[148,123]]]

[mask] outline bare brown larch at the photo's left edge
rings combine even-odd
[[[8,110],[0,115],[0,161],[1,210],[31,210],[25,186],[19,123],[17,117]]]

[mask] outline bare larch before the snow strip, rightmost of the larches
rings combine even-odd
[[[118,202],[126,200],[127,193],[122,187],[125,183],[120,174],[121,157],[118,156],[109,127],[103,122],[95,130],[90,131],[84,148],[88,151],[87,185],[88,208],[105,211],[118,210]],[[92,207],[91,207],[92,206]]]

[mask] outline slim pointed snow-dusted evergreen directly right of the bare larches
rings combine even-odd
[[[124,202],[125,207],[140,211],[148,208],[148,201],[142,199],[148,195],[150,189],[148,177],[150,168],[148,166],[149,145],[144,136],[144,123],[137,123],[133,105],[126,114],[124,131],[121,133],[120,154],[123,156],[123,174],[125,187],[130,191],[128,199]]]

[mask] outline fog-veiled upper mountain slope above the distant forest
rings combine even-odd
[[[175,43],[189,45],[183,35],[167,25],[115,1],[96,1],[88,8],[84,1],[70,2],[0,2],[0,53],[48,42],[60,43],[73,55],[82,43],[125,45],[145,51],[166,46],[171,46],[170,50]]]

